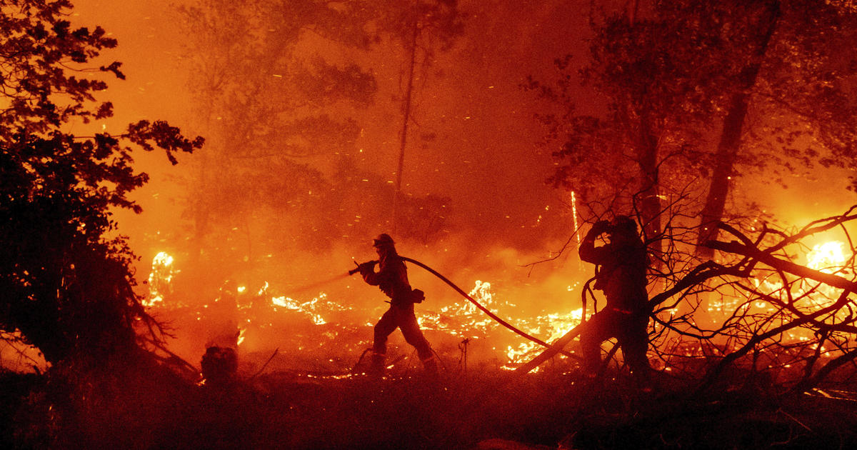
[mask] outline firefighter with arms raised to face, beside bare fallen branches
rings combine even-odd
[[[607,234],[609,242],[596,247],[595,240],[602,234]],[[648,384],[650,309],[645,287],[649,256],[637,223],[628,216],[596,222],[580,244],[579,254],[582,261],[596,265],[594,287],[607,297],[607,306],[592,315],[580,333],[586,369],[597,372],[602,342],[616,338],[632,374]]]

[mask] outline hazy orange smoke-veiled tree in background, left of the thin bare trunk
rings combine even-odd
[[[335,221],[323,205],[334,188],[311,161],[357,153],[351,117],[377,90],[355,62],[371,43],[369,9],[203,0],[180,11],[195,111],[212,149],[190,182],[191,254],[206,248],[208,260],[252,264],[296,243],[329,243],[321,231]]]

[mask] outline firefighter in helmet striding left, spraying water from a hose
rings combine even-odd
[[[378,286],[390,298],[390,309],[375,324],[375,343],[372,347],[371,370],[376,375],[383,373],[387,357],[387,337],[400,328],[405,341],[417,349],[417,355],[423,361],[423,368],[431,375],[437,373],[434,351],[423,337],[423,332],[414,315],[414,303],[423,301],[423,291],[411,289],[405,261],[396,252],[393,238],[388,234],[375,237],[373,243],[378,253],[378,261],[358,264],[351,273],[359,272],[363,281]],[[375,272],[375,265],[378,272]]]

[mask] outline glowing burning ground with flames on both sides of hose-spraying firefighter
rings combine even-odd
[[[417,305],[417,320],[447,369],[464,370],[467,364],[471,369],[485,365],[512,369],[540,347],[501,327],[422,268],[409,267],[411,282],[428,297]],[[540,339],[555,339],[580,322],[580,282],[565,273],[530,272],[527,267],[494,271],[494,276],[508,279],[494,284],[476,279],[463,289],[512,326]],[[148,277],[147,305],[174,328],[171,351],[189,361],[209,345],[234,346],[245,363],[279,349],[271,369],[346,375],[371,347],[372,327],[388,307],[380,291],[363,285],[359,275],[348,278],[345,270],[309,287],[298,286],[291,295],[286,293],[288,287],[267,281],[259,285],[228,281],[209,299],[177,291],[174,280],[181,285],[181,276],[180,263],[171,255],[156,255]],[[390,356],[399,361],[397,367],[415,369],[411,347],[399,333],[391,338]]]

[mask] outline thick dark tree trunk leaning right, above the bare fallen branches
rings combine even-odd
[[[708,198],[705,200],[705,206],[700,214],[702,218],[699,221],[696,254],[701,258],[710,258],[714,255],[714,250],[704,247],[704,243],[717,237],[716,224],[723,217],[726,198],[732,185],[734,164],[740,150],[741,135],[744,130],[752,87],[756,85],[758,72],[762,67],[762,58],[768,50],[771,36],[776,30],[780,15],[780,2],[775,0],[768,3],[757,27],[758,30],[764,30],[764,33],[759,36],[758,46],[752,53],[752,59],[740,72],[739,87],[733,94],[728,112],[723,119],[723,129],[715,153],[715,167],[711,175]]]

